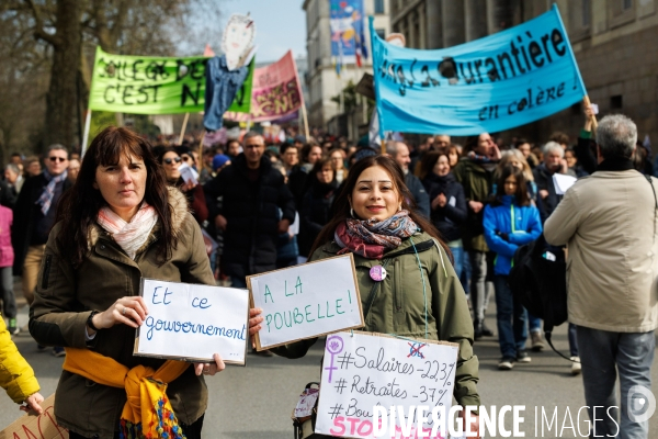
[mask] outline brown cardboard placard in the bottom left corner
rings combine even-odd
[[[68,439],[68,430],[55,420],[55,394],[41,404],[44,413],[26,413],[0,431],[0,439]],[[18,410],[16,406],[16,410]]]

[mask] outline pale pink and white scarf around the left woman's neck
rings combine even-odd
[[[126,223],[110,207],[105,206],[100,210],[97,222],[112,235],[116,244],[134,260],[137,250],[146,243],[158,222],[158,214],[154,207],[144,202],[133,219]]]

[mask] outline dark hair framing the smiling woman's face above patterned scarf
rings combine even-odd
[[[394,159],[382,155],[362,158],[361,160],[356,161],[352,168],[350,168],[348,179],[343,182],[343,189],[336,198],[336,201],[333,203],[333,218],[331,218],[329,224],[327,224],[322,228],[315,243],[313,243],[310,255],[313,255],[313,252],[317,248],[333,240],[333,233],[336,232],[336,227],[338,227],[340,223],[342,223],[350,216],[350,201],[348,196],[352,194],[352,191],[354,190],[354,187],[356,185],[356,181],[359,180],[361,173],[373,166],[379,166],[384,168],[386,172],[388,172],[393,180],[394,188],[402,198],[402,209],[409,211],[409,216],[411,217],[411,219],[413,219],[413,222],[422,230],[427,232],[430,236],[436,239],[439,244],[441,244],[441,247],[443,247],[445,252],[452,259],[452,254],[450,252],[450,249],[447,248],[445,243],[443,243],[443,239],[441,239],[436,227],[434,227],[432,223],[426,219],[424,216],[416,213],[416,201],[413,200],[413,195],[411,195],[411,192],[409,192],[409,189],[407,189],[407,184],[405,184],[405,173],[402,172],[402,169]]]

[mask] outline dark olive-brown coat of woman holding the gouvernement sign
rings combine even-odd
[[[144,364],[157,369],[163,363],[163,360],[133,356],[135,329],[126,325],[101,329],[89,342],[86,325],[91,311],[104,311],[120,297],[138,295],[143,277],[215,284],[201,229],[188,212],[184,195],[169,188],[169,203],[179,241],[163,264],[159,264],[154,246],[159,223],[135,260],[97,226],[89,237],[90,254],[78,269],[63,258],[61,248],[66,243],[58,239],[61,224],[55,225],[30,309],[30,333],[38,344],[93,349],[128,368]],[[194,374],[193,368],[169,383],[167,395],[177,417],[186,425],[198,419],[206,409],[206,384],[203,376]],[[112,439],[118,430],[125,402],[123,389],[97,384],[63,371],[55,396],[55,415],[59,425],[79,435]]]

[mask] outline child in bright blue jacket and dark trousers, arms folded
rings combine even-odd
[[[517,361],[531,359],[525,351],[525,309],[514,300],[508,278],[514,251],[542,234],[542,222],[540,211],[530,202],[523,170],[508,165],[498,176],[494,200],[485,207],[484,227],[487,246],[496,252],[494,285],[502,353],[498,369],[511,370]]]

